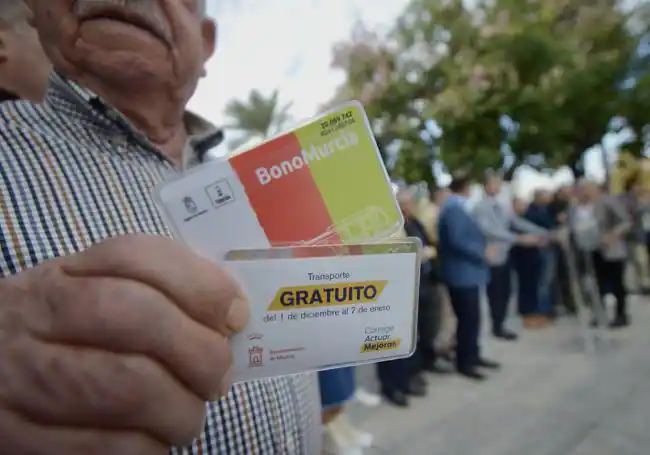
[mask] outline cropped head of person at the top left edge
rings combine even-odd
[[[41,101],[51,66],[22,0],[0,0],[0,102]]]

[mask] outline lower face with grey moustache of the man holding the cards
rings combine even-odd
[[[215,24],[197,0],[29,2],[45,51],[69,77],[189,98],[214,51]]]

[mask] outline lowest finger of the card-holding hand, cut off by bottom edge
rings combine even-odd
[[[0,408],[3,451],[15,455],[167,455],[169,447],[142,433],[41,426]]]

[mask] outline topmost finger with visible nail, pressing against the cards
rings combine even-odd
[[[225,335],[240,331],[250,316],[240,287],[223,268],[165,237],[115,237],[60,263],[71,276],[113,276],[147,284],[194,320]]]

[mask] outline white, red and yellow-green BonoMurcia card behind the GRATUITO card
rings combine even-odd
[[[213,260],[233,249],[378,241],[403,224],[357,102],[155,193],[176,237]]]

